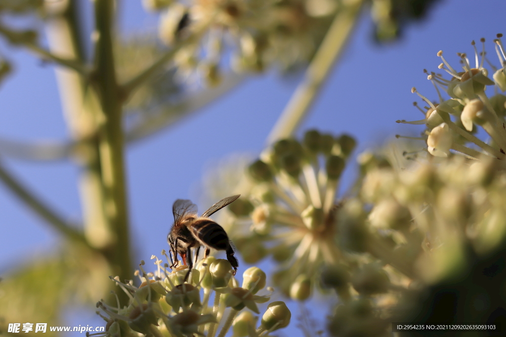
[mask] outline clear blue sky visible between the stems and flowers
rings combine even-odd
[[[126,0],[121,30],[153,29],[156,17],[140,1]],[[429,18],[407,27],[403,39],[389,45],[371,40],[371,20],[364,13],[340,62],[334,67],[319,99],[298,134],[309,128],[355,136],[358,152],[413,134],[415,127],[397,119],[419,119],[412,107],[412,86],[432,100],[437,95],[423,69],[436,71],[439,50],[458,67],[457,52],[472,53],[471,40],[487,39],[487,52],[497,64],[492,39],[506,33],[503,0],[446,0]],[[0,87],[0,136],[23,140],[63,140],[67,130],[61,115],[51,66],[24,51],[6,46],[0,51],[15,60],[16,72]],[[219,101],[177,125],[135,143],[126,165],[135,261],[149,260],[166,248],[171,205],[178,198],[197,199],[196,186],[210,163],[232,153],[256,156],[299,77],[282,78],[275,70],[253,76]],[[3,157],[5,164],[36,193],[70,219],[80,218],[76,179],[68,161],[21,162]],[[181,164],[181,163],[184,163]],[[347,179],[352,177],[351,174]],[[199,205],[205,209],[207,205]],[[0,185],[0,272],[40,253],[51,252],[58,235]],[[82,324],[82,322],[77,322]],[[88,322],[85,322],[88,324]]]

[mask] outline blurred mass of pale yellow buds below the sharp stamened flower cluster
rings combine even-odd
[[[486,255],[504,242],[506,176],[500,161],[454,156],[399,171],[370,165],[378,162],[370,154],[362,159],[368,168],[361,197],[373,205],[369,230],[389,238],[410,277],[446,279],[467,267],[470,248]]]

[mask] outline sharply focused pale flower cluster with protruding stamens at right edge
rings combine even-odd
[[[503,127],[506,96],[498,92],[506,90],[506,51],[501,37],[502,34],[497,34],[494,39],[499,68],[485,57],[485,39],[482,38],[481,53],[478,53],[475,42],[471,43],[475,54],[474,67],[466,54],[459,53],[457,55],[463,71],[457,71],[440,51],[437,54],[442,60],[439,69],[446,71],[452,78],[448,80],[441,74],[425,71],[436,88],[439,103],[432,103],[415,88],[412,89],[412,92],[417,93],[428,105],[421,108],[414,103],[425,118],[412,122],[397,122],[425,124],[426,129],[418,139],[427,142],[427,151],[431,155],[448,157],[457,153],[474,159],[483,156],[501,161],[506,159],[506,130]],[[485,61],[492,69],[491,72],[484,67]],[[494,85],[494,92],[487,95],[486,87],[491,85]],[[448,99],[443,98],[440,89],[447,93]],[[480,139],[480,135],[484,133],[478,132],[479,127],[486,132],[489,139]]]

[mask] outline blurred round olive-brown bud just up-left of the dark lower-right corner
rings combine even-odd
[[[359,268],[351,282],[355,290],[363,295],[386,293],[390,286],[388,274],[377,263],[369,263]]]

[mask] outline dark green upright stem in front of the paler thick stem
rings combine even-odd
[[[95,22],[99,38],[95,45],[95,70],[91,78],[103,113],[99,152],[104,209],[116,238],[115,247],[109,252],[108,258],[116,267],[115,272],[120,280],[125,280],[132,277],[132,264],[123,163],[122,100],[113,56],[114,14],[114,1],[95,0]],[[120,300],[121,305],[126,304],[126,297]]]

